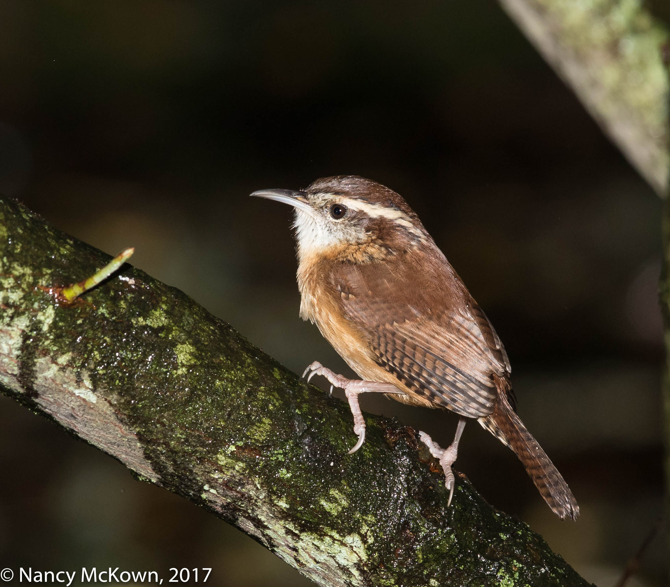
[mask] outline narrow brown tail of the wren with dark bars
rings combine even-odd
[[[479,418],[479,423],[517,454],[538,491],[559,518],[577,519],[580,508],[572,491],[537,440],[523,426],[505,393],[498,393],[494,412]]]

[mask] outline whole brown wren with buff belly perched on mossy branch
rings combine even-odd
[[[460,415],[449,448],[419,435],[440,459],[450,502],[451,465],[469,417],[519,456],[561,519],[576,519],[572,492],[517,416],[505,347],[401,196],[357,176],[251,195],[295,208],[300,316],[314,322],[362,378],[347,379],[316,361],[303,374],[323,375],[344,389],[358,435],[350,453],[365,440],[359,393],[448,408]]]

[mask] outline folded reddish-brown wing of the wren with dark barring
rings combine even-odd
[[[442,267],[425,263],[420,276],[416,271],[403,263],[340,265],[331,283],[344,318],[369,337],[379,365],[456,413],[492,413],[492,374],[509,376],[505,349],[446,259]]]

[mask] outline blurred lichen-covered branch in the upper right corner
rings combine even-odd
[[[643,0],[500,0],[632,166],[665,198],[667,30]]]

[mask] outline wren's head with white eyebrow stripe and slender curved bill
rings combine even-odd
[[[370,262],[425,242],[415,212],[399,194],[358,176],[312,182],[306,190],[259,190],[252,196],[295,208],[298,257]]]

